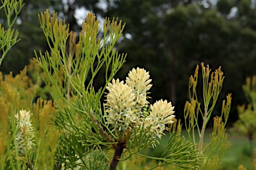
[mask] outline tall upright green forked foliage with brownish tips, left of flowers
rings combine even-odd
[[[61,20],[57,21],[56,17],[54,13],[49,19],[48,11],[39,17],[47,43],[51,48],[51,56],[49,52],[45,52],[45,56],[40,53],[40,58],[36,54],[39,65],[50,78],[50,81],[45,80],[47,86],[56,88],[50,92],[59,91],[58,94],[51,95],[54,100],[57,100],[58,95],[65,100],[70,94],[72,96],[80,94],[81,98],[85,89],[89,90],[89,88],[92,91],[90,93],[93,94],[93,80],[103,64],[106,66],[105,82],[108,83],[125,61],[125,56],[119,55],[113,48],[123,30],[121,23],[117,25],[117,21],[113,21],[110,25],[109,21],[105,21],[103,41],[101,41],[97,39],[99,21],[95,21],[95,16],[89,14],[87,23],[83,23],[82,31],[79,33],[79,43],[75,44],[75,33],[69,33],[69,27]],[[68,37],[69,49],[66,49]],[[101,52],[99,52],[100,48]],[[93,65],[94,62],[96,66]],[[110,74],[109,77],[108,74]],[[91,80],[85,85],[88,76],[91,76]],[[63,84],[62,80],[67,83]],[[96,100],[99,101],[103,90],[99,91]],[[65,94],[64,97],[63,94]],[[87,95],[84,94],[84,97]]]

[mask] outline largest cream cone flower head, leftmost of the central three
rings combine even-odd
[[[123,81],[119,79],[112,80],[107,85],[107,104],[106,112],[107,124],[111,124],[118,133],[119,139],[123,139],[123,135],[127,129],[132,129],[136,124],[137,116],[134,114],[135,94],[133,90]]]

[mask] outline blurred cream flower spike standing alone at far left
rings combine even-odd
[[[17,120],[17,128],[19,131],[16,134],[16,142],[19,156],[25,156],[25,153],[33,146],[34,131],[30,122],[30,111],[20,110],[19,114],[15,115]]]

